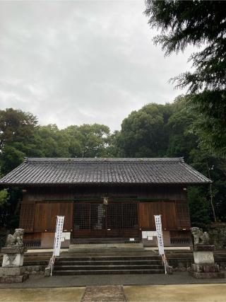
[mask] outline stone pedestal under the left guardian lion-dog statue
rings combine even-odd
[[[28,279],[23,267],[23,256],[28,249],[21,248],[2,248],[4,253],[2,267],[0,267],[0,283],[18,283]]]

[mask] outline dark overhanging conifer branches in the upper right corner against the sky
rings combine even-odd
[[[178,87],[188,87],[192,94],[194,112],[200,115],[196,127],[201,144],[223,156],[226,154],[225,11],[225,1],[172,0],[146,0],[145,10],[151,28],[161,30],[155,43],[162,45],[165,54],[184,51],[187,45],[202,46],[201,51],[189,58],[194,71],[187,71],[174,81]]]

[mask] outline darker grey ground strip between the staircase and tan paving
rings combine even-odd
[[[226,273],[225,273],[226,274]],[[23,283],[0,284],[0,289],[32,289],[44,287],[70,287],[95,285],[166,285],[166,284],[218,284],[225,283],[224,279],[195,279],[188,272],[165,274],[104,274],[86,276],[53,276],[31,275]],[[225,298],[226,301],[226,298]]]

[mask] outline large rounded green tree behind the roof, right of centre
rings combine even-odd
[[[117,144],[122,156],[165,156],[168,137],[165,125],[172,114],[171,105],[150,103],[133,111],[121,123]]]

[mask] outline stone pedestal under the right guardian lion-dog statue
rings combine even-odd
[[[189,274],[197,279],[225,278],[220,272],[219,265],[215,265],[213,251],[214,245],[194,245],[194,264]]]

